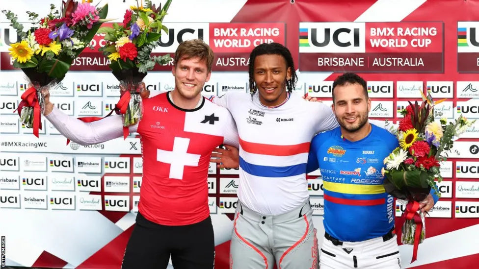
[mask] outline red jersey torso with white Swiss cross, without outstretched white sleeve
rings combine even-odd
[[[163,225],[206,219],[211,152],[223,143],[238,145],[229,112],[206,99],[196,109],[183,110],[160,94],[143,100],[137,132],[143,148],[139,212]]]

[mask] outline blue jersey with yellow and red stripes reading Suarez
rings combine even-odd
[[[394,198],[383,187],[383,160],[399,146],[387,130],[372,125],[362,140],[350,142],[340,127],[313,138],[308,172],[320,167],[324,228],[347,242],[383,236],[394,227]]]

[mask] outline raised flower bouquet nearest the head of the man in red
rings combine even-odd
[[[123,116],[124,136],[128,135],[128,126],[136,124],[142,116],[140,93],[144,91],[143,78],[155,64],[164,65],[171,61],[169,55],[152,57],[151,51],[159,45],[161,30],[168,33],[162,24],[171,0],[163,8],[156,7],[145,0],[127,9],[123,24],[113,24],[113,28],[102,27],[99,33],[105,33],[105,46],[100,51],[111,61],[109,68],[120,82],[121,97],[116,108]]]

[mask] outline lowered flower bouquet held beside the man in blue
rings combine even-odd
[[[426,235],[424,215],[417,212],[419,203],[429,195],[431,188],[440,196],[434,182],[436,179],[442,181],[439,163],[445,161],[448,152],[452,151],[453,139],[475,122],[462,115],[454,122],[448,123],[444,118],[434,121],[434,105],[444,100],[434,102],[430,95],[423,95],[421,105],[417,101],[414,104],[409,102],[401,112],[404,118],[395,131],[399,147],[384,159],[384,188],[406,204],[401,217],[404,223],[398,236],[402,244],[414,245],[412,261],[416,260],[417,247]]]

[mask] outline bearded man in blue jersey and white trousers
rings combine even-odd
[[[321,269],[401,268],[394,234],[394,198],[383,187],[383,160],[399,146],[396,136],[369,123],[366,81],[345,73],[333,83],[332,109],[339,127],[311,143],[307,171],[320,167],[325,235]],[[437,196],[427,196],[428,211]]]

